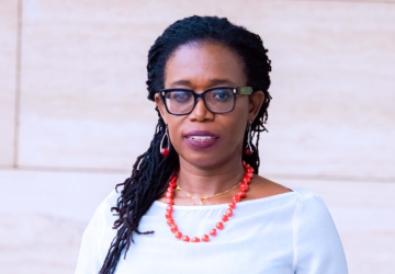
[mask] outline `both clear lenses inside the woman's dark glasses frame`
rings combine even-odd
[[[214,89],[204,93],[204,100],[208,111],[213,113],[228,112],[234,107],[233,89]],[[173,114],[185,114],[195,105],[192,91],[170,91],[166,93],[166,105]]]

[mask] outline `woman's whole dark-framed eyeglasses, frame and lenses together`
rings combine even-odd
[[[159,91],[168,113],[173,115],[190,114],[201,98],[205,107],[212,113],[227,113],[235,109],[238,94],[250,95],[251,87],[215,87],[203,93],[187,89],[163,89]]]

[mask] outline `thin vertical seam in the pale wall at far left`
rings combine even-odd
[[[13,168],[19,167],[19,134],[21,113],[21,61],[22,61],[22,5],[23,0],[18,0],[16,14],[16,66],[15,66],[15,113],[14,113],[14,155]]]

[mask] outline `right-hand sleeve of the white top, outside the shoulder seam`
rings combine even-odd
[[[347,273],[345,251],[335,221],[321,197],[314,191],[292,189],[295,273]],[[314,248],[312,248],[314,247]]]

